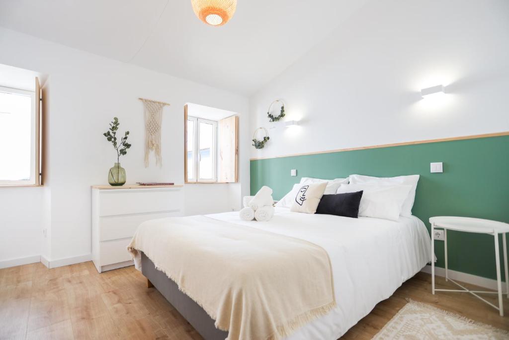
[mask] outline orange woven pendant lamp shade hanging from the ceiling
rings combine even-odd
[[[237,8],[237,0],[191,0],[191,4],[196,16],[212,26],[227,23]]]

